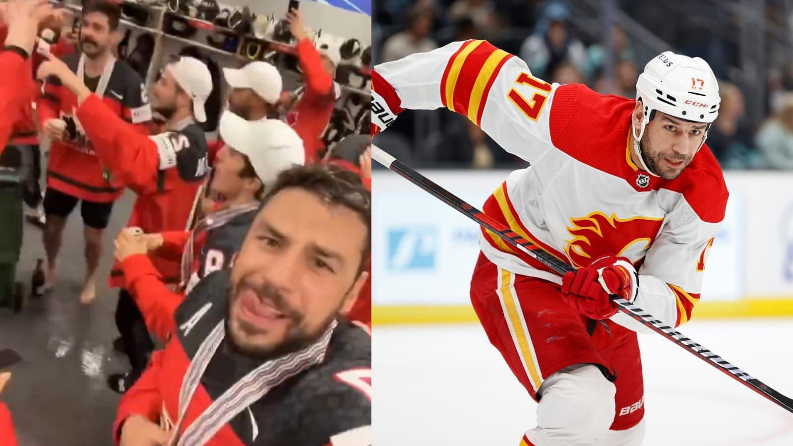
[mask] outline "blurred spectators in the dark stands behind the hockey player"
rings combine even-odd
[[[722,104],[707,145],[723,168],[793,167],[793,68],[768,68],[763,118],[748,119],[745,94],[753,92],[741,90],[729,80],[730,67],[741,64],[737,37],[731,37],[730,30],[723,26],[712,30],[714,27],[707,25],[730,23],[740,14],[733,9],[731,16],[726,8],[714,12],[709,7],[713,2],[681,2],[689,11],[707,12],[701,17],[687,17],[691,23],[699,19],[706,32],[692,25],[670,25],[665,16],[670,7],[666,2],[615,0],[614,5],[671,44],[668,49],[702,56],[711,64],[719,77]],[[776,2],[766,0],[766,15],[774,15],[769,10],[773,11]],[[651,6],[647,7],[648,3]],[[691,3],[698,3],[699,8]],[[611,29],[610,48],[614,52],[609,54],[600,38],[587,38],[578,32],[570,5],[559,0],[375,0],[374,17],[376,63],[431,51],[456,40],[485,39],[519,56],[538,78],[561,84],[585,83],[603,94],[634,98],[636,80],[647,62],[638,60],[634,42],[623,26]],[[611,65],[606,66],[610,59]],[[419,167],[525,165],[465,117],[453,113],[406,110],[376,142]]]

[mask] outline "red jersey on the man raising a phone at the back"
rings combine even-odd
[[[333,79],[322,67],[320,53],[308,38],[297,43],[297,56],[303,71],[305,90],[292,111],[286,115],[289,124],[303,140],[305,163],[316,163],[324,148],[322,134],[335,106]]]

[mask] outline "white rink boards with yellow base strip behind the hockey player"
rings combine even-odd
[[[481,206],[508,171],[422,173]],[[375,323],[476,321],[469,279],[478,226],[393,172],[374,177]],[[730,200],[694,317],[793,315],[793,178],[729,171],[725,179]]]

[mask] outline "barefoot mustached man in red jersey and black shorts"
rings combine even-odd
[[[121,10],[106,0],[92,0],[82,9],[81,51],[63,62],[82,83],[101,98],[117,117],[147,135],[151,123],[143,79],[127,63],[116,60],[113,46],[120,40]],[[44,268],[46,289],[55,285],[56,263],[67,217],[81,202],[85,225],[86,275],[80,302],[96,297],[96,272],[102,257],[102,234],[108,225],[113,202],[121,197],[124,184],[97,157],[95,145],[77,117],[77,96],[59,79],[48,79],[37,102],[40,129],[52,140],[44,194]]]

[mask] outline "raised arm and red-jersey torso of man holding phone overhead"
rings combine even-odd
[[[286,14],[289,30],[297,40],[297,57],[303,71],[303,88],[301,98],[286,115],[286,122],[303,138],[305,144],[306,163],[316,163],[322,156],[324,144],[322,135],[331,121],[333,107],[339,96],[338,86],[333,82],[337,58],[329,52],[320,55],[303,28],[303,18],[299,10],[290,10]],[[282,103],[291,104],[292,99],[286,96]]]

